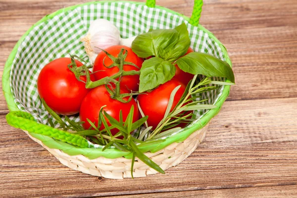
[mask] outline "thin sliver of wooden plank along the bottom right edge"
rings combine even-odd
[[[129,195],[121,198],[296,198],[297,186],[274,186],[261,188],[215,189],[204,191],[181,191]],[[118,198],[118,197],[110,197]]]

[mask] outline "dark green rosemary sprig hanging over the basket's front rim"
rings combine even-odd
[[[103,107],[101,107],[100,112],[99,112],[99,124],[98,126],[95,126],[94,123],[92,123],[90,120],[89,123],[91,124],[92,128],[94,129],[89,129],[89,130],[83,130],[82,126],[79,124],[83,124],[83,122],[76,123],[72,120],[70,120],[67,116],[65,116],[65,120],[69,123],[67,125],[59,115],[57,115],[50,107],[47,105],[47,103],[42,100],[46,110],[49,112],[49,114],[58,121],[61,127],[66,130],[73,130],[76,131],[75,134],[82,135],[82,136],[88,136],[93,142],[96,144],[99,144],[101,146],[104,146],[102,148],[102,151],[105,150],[106,148],[109,148],[110,146],[114,146],[115,148],[118,148],[123,151],[128,151],[133,154],[132,157],[132,164],[131,164],[131,175],[133,178],[133,165],[134,165],[134,160],[135,157],[137,157],[139,160],[143,161],[145,164],[147,164],[149,167],[155,169],[156,171],[165,174],[165,172],[156,164],[154,163],[148,156],[146,156],[139,148],[140,147],[145,147],[145,146],[150,146],[156,143],[162,143],[164,140],[158,140],[158,141],[148,141],[148,142],[143,142],[140,139],[136,139],[131,135],[131,133],[134,130],[137,130],[139,127],[141,127],[148,119],[148,116],[145,116],[136,122],[133,121],[133,114],[134,114],[134,105],[131,106],[130,112],[125,120],[123,122],[123,115],[122,112],[120,111],[120,121],[117,121],[113,117],[111,117],[108,113],[103,111]],[[108,126],[105,117],[111,124],[111,126]],[[49,119],[50,120],[50,119]],[[52,123],[52,122],[49,122]],[[104,125],[105,129],[99,130],[101,123]],[[53,125],[53,124],[52,124]],[[112,136],[111,134],[111,129],[118,129],[119,132]],[[151,128],[151,127],[150,127]],[[150,129],[148,128],[148,130]],[[147,131],[148,131],[147,130]],[[123,139],[119,139],[117,137],[122,136]],[[137,145],[139,144],[139,145]]]

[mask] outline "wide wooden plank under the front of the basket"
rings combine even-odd
[[[0,194],[100,197],[296,185],[296,118],[296,98],[227,101],[205,141],[165,175],[110,180],[61,165],[0,115]]]

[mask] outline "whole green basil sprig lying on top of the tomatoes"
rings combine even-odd
[[[155,56],[145,60],[141,67],[139,92],[146,92],[171,80],[176,71],[174,64],[191,74],[226,77],[234,83],[234,74],[228,63],[206,53],[192,52],[183,56],[190,43],[185,23],[172,30],[150,30],[137,36],[132,50],[139,57]]]

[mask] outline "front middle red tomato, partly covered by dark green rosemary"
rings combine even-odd
[[[127,93],[127,92],[121,89],[121,94],[122,93]],[[103,110],[106,111],[106,113],[108,113],[110,116],[112,116],[114,119],[118,121],[120,120],[120,110],[122,110],[123,121],[125,121],[130,112],[131,106],[134,105],[133,122],[139,119],[139,111],[134,99],[132,99],[128,103],[123,103],[116,99],[111,99],[110,94],[107,92],[105,86],[102,85],[91,90],[91,92],[88,93],[88,95],[85,97],[85,99],[82,102],[79,116],[81,121],[85,122],[83,124],[84,129],[89,129],[91,127],[87,118],[91,120],[93,123],[95,122],[95,126],[98,126],[99,111],[100,111],[100,108],[104,105],[106,106],[103,107]],[[110,123],[108,122],[107,119],[106,121],[108,126],[110,126]],[[103,130],[103,129],[104,129],[104,126],[102,123],[99,130]],[[111,130],[112,135],[115,135],[117,132],[118,132],[117,129]]]

